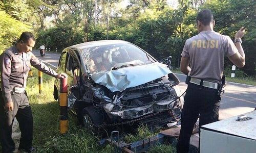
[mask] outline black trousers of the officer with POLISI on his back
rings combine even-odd
[[[189,140],[199,117],[199,128],[202,125],[218,121],[220,96],[218,90],[188,84],[181,114],[181,130],[177,143],[177,152],[188,152]]]

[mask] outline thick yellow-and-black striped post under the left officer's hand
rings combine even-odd
[[[59,129],[61,134],[68,132],[68,77],[60,79],[60,93],[59,93],[59,106],[60,106],[60,122]]]

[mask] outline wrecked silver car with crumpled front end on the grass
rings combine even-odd
[[[63,50],[58,73],[68,75],[68,108],[93,131],[179,120],[179,79],[138,46],[121,40],[86,42]],[[59,81],[54,83],[58,99]],[[128,126],[127,126],[128,125]]]

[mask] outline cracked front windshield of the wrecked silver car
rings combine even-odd
[[[82,58],[88,72],[93,74],[155,62],[140,48],[129,43],[84,48]]]

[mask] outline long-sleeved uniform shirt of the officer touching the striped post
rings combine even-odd
[[[15,45],[8,48],[0,57],[1,84],[5,103],[12,101],[13,87],[26,87],[30,65],[55,78],[58,75],[36,58],[32,52],[18,53]]]

